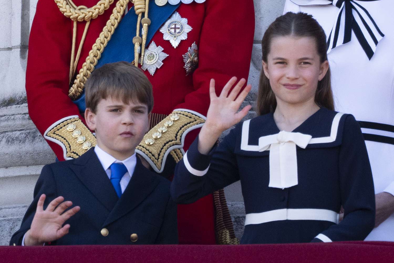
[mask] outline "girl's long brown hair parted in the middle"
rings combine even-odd
[[[323,28],[319,23],[312,18],[311,15],[305,13],[292,13],[288,12],[278,18],[264,33],[261,41],[263,61],[267,63],[267,55],[271,41],[274,37],[312,37],[316,40],[316,48],[320,56],[320,63],[327,60],[327,43],[326,36]],[[333,93],[331,92],[331,76],[330,68],[321,81],[318,82],[318,88],[315,95],[315,103],[319,107],[325,107],[330,110],[334,110]],[[276,98],[273,94],[271,85],[269,85],[269,79],[264,74],[264,70],[261,70],[260,82],[258,85],[258,97],[257,97],[257,115],[267,114],[275,111]]]

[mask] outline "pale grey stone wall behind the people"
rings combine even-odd
[[[253,105],[255,101],[262,35],[282,14],[284,0],[254,3],[256,26],[248,79],[253,90],[245,105]],[[55,160],[29,118],[24,90],[28,38],[36,5],[37,0],[0,0],[0,245],[8,245],[11,235],[19,228],[42,167]],[[247,118],[254,115],[251,111]],[[225,193],[236,235],[241,237],[245,210],[239,182],[228,186]]]

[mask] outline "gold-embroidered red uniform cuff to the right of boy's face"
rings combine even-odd
[[[182,159],[184,138],[188,132],[203,126],[205,117],[191,110],[177,109],[160,121],[136,147],[154,171],[162,173],[168,154],[175,162]]]

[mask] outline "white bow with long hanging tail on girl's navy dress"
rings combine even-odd
[[[288,188],[298,184],[296,145],[305,149],[312,136],[281,131],[260,137],[259,151],[269,149],[269,187]]]

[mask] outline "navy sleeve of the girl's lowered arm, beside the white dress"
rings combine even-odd
[[[345,119],[339,172],[344,219],[321,234],[332,241],[364,240],[375,224],[374,182],[360,125],[352,115]]]

